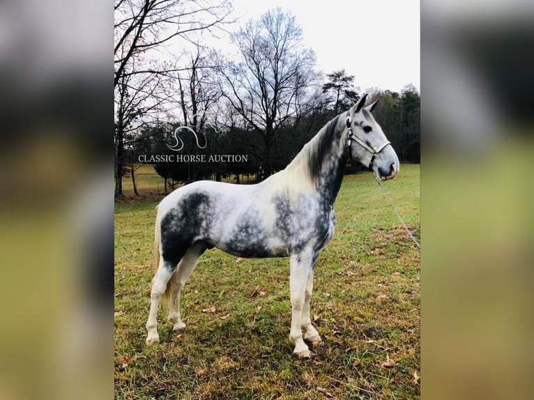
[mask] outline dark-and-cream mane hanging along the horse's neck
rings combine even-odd
[[[307,144],[304,145],[302,150],[293,158],[293,161],[286,167],[286,171],[296,171],[298,169],[304,169],[311,180],[315,180],[319,174],[321,174],[321,168],[325,156],[332,149],[332,145],[335,142],[335,133],[337,129],[337,121],[340,116],[335,116],[326,123],[326,125],[316,133],[314,137]]]

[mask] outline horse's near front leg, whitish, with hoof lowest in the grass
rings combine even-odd
[[[293,344],[295,344],[293,354],[298,355],[300,358],[311,357],[312,355],[310,349],[304,343],[301,328],[303,323],[302,315],[303,311],[305,311],[305,293],[308,276],[312,273],[311,266],[312,252],[301,252],[289,257],[289,270],[291,273],[289,276],[289,289],[291,291],[291,331],[289,332],[289,337]],[[309,318],[310,317],[308,316],[308,319]]]

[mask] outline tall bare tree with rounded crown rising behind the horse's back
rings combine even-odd
[[[264,137],[264,177],[272,172],[275,132],[296,116],[314,78],[315,56],[303,47],[295,17],[280,8],[249,21],[232,37],[241,59],[220,68],[224,97]]]

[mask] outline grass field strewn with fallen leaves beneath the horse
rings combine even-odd
[[[418,238],[419,165],[383,186]],[[315,272],[323,343],[311,360],[291,355],[289,260],[217,249],[183,290],[186,330],[172,332],[160,309],[160,344],[144,344],[156,204],[116,204],[116,399],[419,398],[419,252],[370,174],[346,176],[335,203],[335,236]]]

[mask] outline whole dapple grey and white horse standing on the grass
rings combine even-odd
[[[164,296],[168,321],[183,330],[180,292],[206,249],[246,258],[289,257],[293,353],[310,357],[305,341],[321,341],[310,320],[314,269],[334,235],[334,201],[349,157],[381,180],[399,159],[363,98],[329,121],[283,170],[257,185],[202,180],[178,188],[158,206],[146,344],[158,343],[156,316]],[[304,331],[304,337],[303,337]]]

